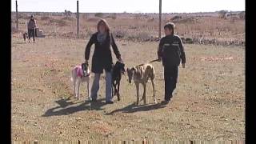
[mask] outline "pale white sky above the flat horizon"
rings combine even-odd
[[[79,0],[79,12],[158,13],[158,2],[159,0]],[[245,0],[162,0],[162,13],[245,11],[245,4]],[[18,0],[18,11],[76,12],[76,6],[77,0]],[[11,11],[15,11],[15,0],[11,0]]]

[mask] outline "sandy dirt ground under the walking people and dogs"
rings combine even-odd
[[[245,47],[185,45],[186,68],[179,67],[173,101],[164,96],[163,67],[154,62],[155,94],[147,85],[147,104],[135,106],[134,84],[122,77],[121,101],[105,103],[104,75],[98,102],[82,84],[76,100],[70,82],[74,65],[84,62],[87,40],[12,38],[11,139],[24,140],[244,140]],[[157,58],[158,42],[117,42],[126,67]],[[94,52],[92,46],[91,57]],[[113,54],[114,62],[116,58]],[[91,63],[90,63],[91,66]],[[92,74],[92,80],[94,74]],[[142,86],[141,86],[142,96]]]

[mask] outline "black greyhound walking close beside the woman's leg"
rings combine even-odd
[[[114,97],[114,95],[117,95],[118,101],[120,101],[120,81],[122,78],[122,74],[124,74],[125,72],[125,64],[119,61],[116,62],[112,69],[112,98]]]

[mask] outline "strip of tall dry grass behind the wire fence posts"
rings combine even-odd
[[[113,14],[112,14],[113,15]],[[152,41],[158,38],[157,14],[138,15],[116,14],[116,18],[106,18],[114,35],[123,40]],[[193,16],[183,14],[174,18],[174,14],[163,15],[162,27],[166,22],[175,22],[176,32],[183,38],[191,38],[194,43],[214,45],[245,46],[245,20],[242,18],[218,18],[216,16]],[[14,16],[13,16],[14,17]],[[20,28],[26,30],[26,18],[20,20]],[[74,16],[37,16],[38,26],[48,37],[75,38],[76,18]],[[96,30],[99,18],[82,14],[80,17],[81,38],[88,38]],[[14,24],[14,23],[13,23]],[[69,35],[70,34],[70,35]],[[162,32],[163,36],[163,32]]]

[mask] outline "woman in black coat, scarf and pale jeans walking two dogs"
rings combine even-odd
[[[96,102],[99,90],[99,79],[103,73],[103,69],[106,74],[106,103],[113,103],[111,96],[111,68],[112,68],[112,55],[110,46],[114,50],[114,54],[118,61],[122,62],[121,54],[118,50],[118,46],[114,42],[114,37],[110,33],[110,26],[106,20],[101,19],[97,24],[97,32],[90,37],[90,41],[87,43],[85,51],[85,62],[88,63],[90,57],[90,47],[94,44],[94,54],[92,58],[92,69],[94,73],[94,82],[91,87],[91,98],[93,102]]]

